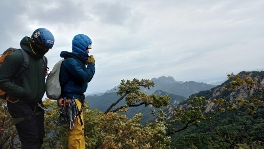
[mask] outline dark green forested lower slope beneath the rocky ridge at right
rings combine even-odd
[[[212,116],[172,136],[172,149],[264,149],[264,108],[256,115],[245,109]],[[239,148],[240,147],[240,148]]]

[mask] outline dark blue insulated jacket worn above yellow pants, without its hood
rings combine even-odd
[[[94,63],[86,66],[82,56],[67,51],[62,51],[61,57],[65,59],[60,75],[60,84],[64,86],[61,97],[81,99],[95,73]]]

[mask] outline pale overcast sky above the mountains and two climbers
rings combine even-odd
[[[50,69],[76,34],[88,35],[96,72],[86,93],[121,79],[264,70],[264,0],[1,0],[0,22],[0,53],[39,27],[50,30]]]

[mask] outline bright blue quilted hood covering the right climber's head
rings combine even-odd
[[[74,36],[72,40],[72,53],[76,55],[80,55],[84,60],[88,59],[88,53],[86,49],[89,45],[91,45],[91,39],[84,34],[78,34]]]

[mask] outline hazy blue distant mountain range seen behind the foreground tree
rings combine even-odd
[[[213,88],[215,85],[210,85],[206,83],[198,83],[194,81],[189,82],[177,82],[172,76],[161,76],[158,78],[153,78],[150,81],[154,81],[155,85],[150,90],[142,89],[142,91],[146,92],[146,94],[156,94],[156,95],[169,95],[171,97],[170,105],[168,107],[162,107],[162,109],[176,107],[178,103],[182,102],[186,97],[189,97],[192,94],[197,93],[200,90],[206,90]],[[88,101],[88,105],[91,109],[98,109],[100,111],[105,112],[110,105],[115,102],[120,96],[117,96],[116,92],[118,90],[118,86],[115,86],[112,90],[107,91],[103,95],[89,95],[86,97],[86,101]],[[165,90],[165,91],[164,91]],[[169,93],[169,92],[170,93]],[[172,93],[173,92],[173,93]],[[178,95],[174,94],[177,93]],[[184,95],[184,96],[182,96]],[[121,100],[113,109],[119,107],[120,105],[124,105],[125,100]],[[150,115],[151,110],[155,109],[152,106],[139,106],[139,107],[129,107],[129,112],[126,113],[128,118],[132,118],[136,113],[142,113],[142,124],[153,121],[154,116]]]

